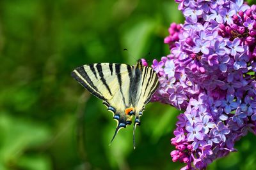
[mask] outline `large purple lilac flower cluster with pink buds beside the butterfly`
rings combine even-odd
[[[160,85],[152,101],[178,116],[173,161],[205,169],[256,134],[256,6],[243,0],[175,0],[186,18],[171,24],[170,55],[153,61]]]

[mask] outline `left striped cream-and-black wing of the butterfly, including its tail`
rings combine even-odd
[[[78,67],[72,72],[84,88],[102,99],[108,110],[113,112],[117,121],[113,139],[121,128],[131,124],[132,115],[127,114],[127,108],[131,108],[129,89],[133,69],[134,66],[127,64],[98,63]]]

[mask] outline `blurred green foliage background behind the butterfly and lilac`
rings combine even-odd
[[[93,62],[135,64],[161,59],[174,1],[1,0],[0,169],[179,169],[170,138],[171,106],[150,103],[136,131],[121,130],[102,101],[71,76]],[[124,51],[126,48],[128,51]],[[255,137],[209,169],[255,169]]]

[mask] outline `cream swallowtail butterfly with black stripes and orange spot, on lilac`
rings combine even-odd
[[[142,60],[138,60],[135,66],[96,63],[77,67],[71,75],[94,96],[102,99],[103,104],[113,113],[117,126],[111,142],[120,129],[132,124],[134,117],[135,148],[136,126],[140,125],[145,105],[159,85],[154,69],[143,66]]]

